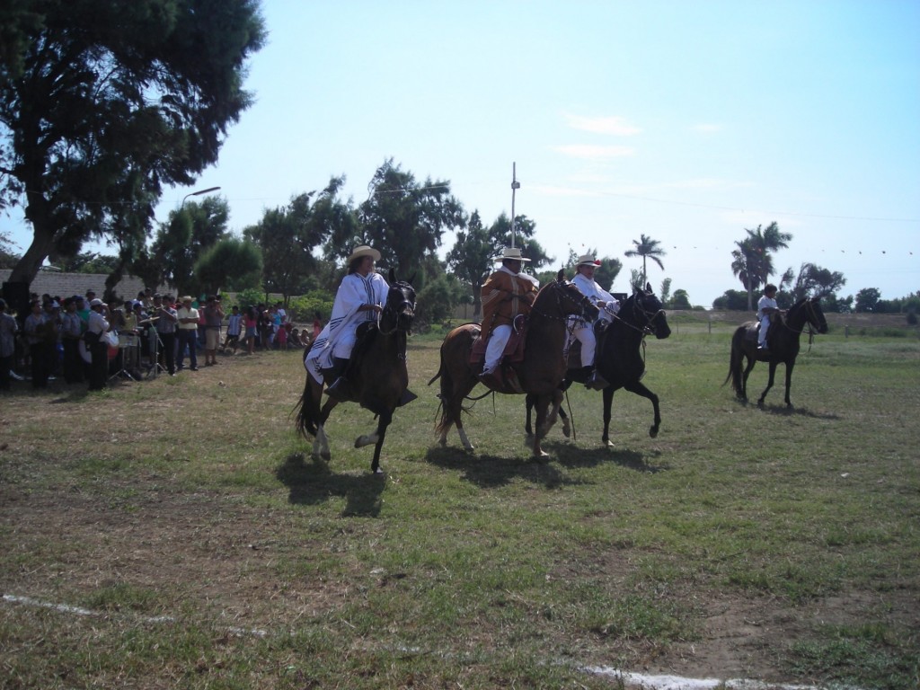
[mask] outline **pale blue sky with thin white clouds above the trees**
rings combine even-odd
[[[667,251],[656,290],[669,277],[710,305],[741,287],[734,241],[772,221],[793,235],[779,270],[842,271],[844,295],[920,290],[916,0],[265,0],[263,14],[255,105],[158,219],[219,185],[239,231],[339,174],[360,203],[392,157],[450,180],[489,224],[511,211],[516,163],[516,211],[547,253],[623,260],[616,290],[645,234]]]

